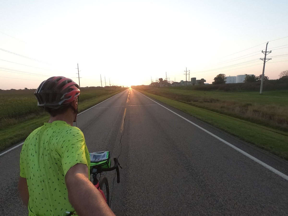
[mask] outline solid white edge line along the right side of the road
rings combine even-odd
[[[137,92],[138,92],[138,91],[137,91]],[[140,93],[140,92],[139,92],[139,93]],[[142,93],[140,93],[140,94],[142,94]],[[147,97],[147,96],[144,95],[144,94],[142,94],[142,95],[145,96],[145,97]],[[147,97],[147,98],[150,99],[151,101],[153,101],[151,98],[149,98],[149,97]],[[153,102],[157,103],[156,101],[153,101]],[[161,105],[160,103],[157,103],[157,104],[160,105],[161,107],[164,107],[164,106]],[[269,166],[268,164],[262,162],[261,160],[258,160],[257,158],[253,157],[252,155],[248,154],[247,152],[245,152],[245,151],[237,148],[236,146],[232,145],[231,143],[228,143],[227,141],[221,139],[220,137],[217,137],[215,134],[213,134],[213,133],[209,132],[208,130],[200,127],[199,125],[191,122],[190,120],[188,120],[188,119],[184,118],[183,116],[175,113],[174,111],[168,109],[167,107],[164,107],[164,108],[167,109],[167,110],[169,110],[170,112],[174,113],[175,115],[178,115],[180,118],[183,118],[184,120],[186,120],[187,122],[193,124],[193,125],[196,126],[197,128],[199,128],[199,129],[205,131],[206,133],[210,134],[212,137],[215,137],[216,139],[218,139],[218,140],[220,140],[221,142],[225,143],[226,145],[232,147],[232,148],[235,149],[236,151],[239,151],[240,153],[244,154],[244,155],[247,156],[248,158],[254,160],[254,161],[257,162],[258,164],[264,166],[264,167],[267,168],[268,170],[271,170],[273,173],[276,173],[277,175],[283,177],[284,179],[286,179],[286,180],[288,181],[288,176],[285,175],[284,173],[281,173],[280,171],[274,169],[272,166]]]

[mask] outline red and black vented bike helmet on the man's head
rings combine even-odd
[[[34,95],[39,107],[60,109],[68,106],[80,94],[79,86],[66,77],[50,77],[43,81]]]

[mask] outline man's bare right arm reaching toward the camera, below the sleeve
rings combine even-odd
[[[88,167],[75,164],[65,175],[68,198],[78,215],[114,215],[102,194],[88,179]]]

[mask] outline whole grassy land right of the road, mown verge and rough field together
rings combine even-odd
[[[251,90],[255,86],[239,86],[133,88],[288,160],[288,89],[274,86],[259,94]]]

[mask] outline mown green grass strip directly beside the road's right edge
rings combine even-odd
[[[248,143],[265,149],[280,158],[288,160],[288,132],[283,132],[228,115],[194,107],[186,103],[150,94],[145,91],[138,91],[235,135]]]

